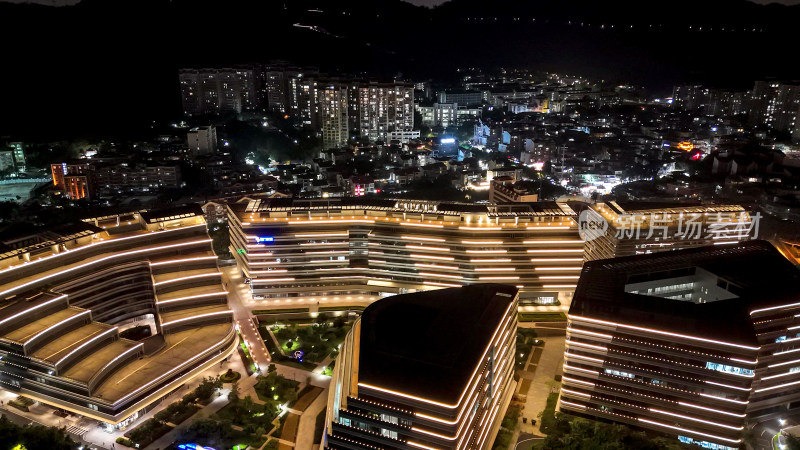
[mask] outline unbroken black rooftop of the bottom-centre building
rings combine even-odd
[[[361,316],[359,382],[457,403],[516,295],[477,284],[371,304]]]

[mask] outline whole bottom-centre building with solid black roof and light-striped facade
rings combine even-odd
[[[322,446],[491,448],[514,392],[516,331],[512,286],[371,304],[336,360]]]

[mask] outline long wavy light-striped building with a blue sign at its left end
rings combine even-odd
[[[372,301],[473,283],[523,304],[569,303],[583,263],[575,213],[556,202],[259,199],[229,204],[231,252],[253,297]]]

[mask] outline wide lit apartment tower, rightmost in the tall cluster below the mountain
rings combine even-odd
[[[414,86],[409,83],[363,83],[359,86],[361,137],[385,141],[391,131],[414,128]]]

